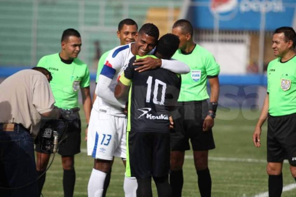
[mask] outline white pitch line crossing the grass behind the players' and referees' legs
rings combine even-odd
[[[81,149],[81,153],[87,153],[86,148]],[[193,159],[192,155],[185,155],[185,159]],[[265,159],[252,158],[231,158],[231,157],[209,157],[210,161],[230,161],[230,162],[248,162],[248,163],[267,163]],[[284,160],[284,163],[288,163]]]

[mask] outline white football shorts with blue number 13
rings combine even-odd
[[[87,155],[112,160],[126,158],[126,117],[112,116],[91,110],[87,132]]]

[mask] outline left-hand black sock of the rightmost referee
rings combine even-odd
[[[283,174],[268,175],[269,197],[280,197],[283,191]]]

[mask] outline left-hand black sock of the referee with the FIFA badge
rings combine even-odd
[[[183,170],[170,171],[170,187],[172,188],[172,197],[181,197],[183,188]]]

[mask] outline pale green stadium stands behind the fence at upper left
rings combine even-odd
[[[175,8],[182,3],[181,0],[153,4],[121,0],[3,0],[0,6],[0,66],[34,66],[42,56],[59,52],[60,37],[66,28],[75,28],[81,33],[80,58],[92,66],[95,41],[99,41],[102,52],[119,44],[116,30],[120,20],[129,17],[139,26],[147,21],[164,24],[168,18],[165,7],[172,2]],[[155,15],[155,12],[164,15]],[[174,20],[177,16],[178,11],[175,11]]]

